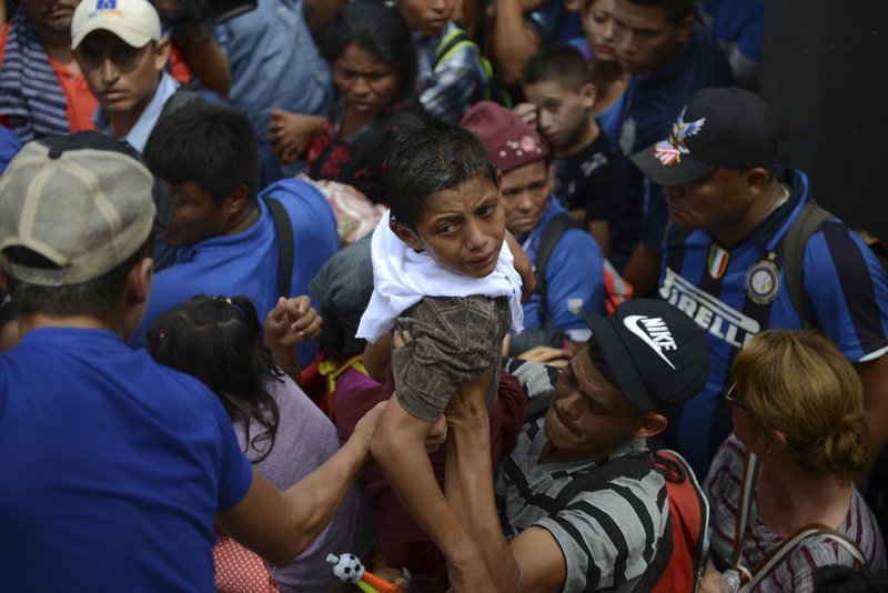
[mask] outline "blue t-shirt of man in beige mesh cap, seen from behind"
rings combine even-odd
[[[198,380],[104,330],[0,353],[4,591],[213,591],[213,517],[252,469]]]

